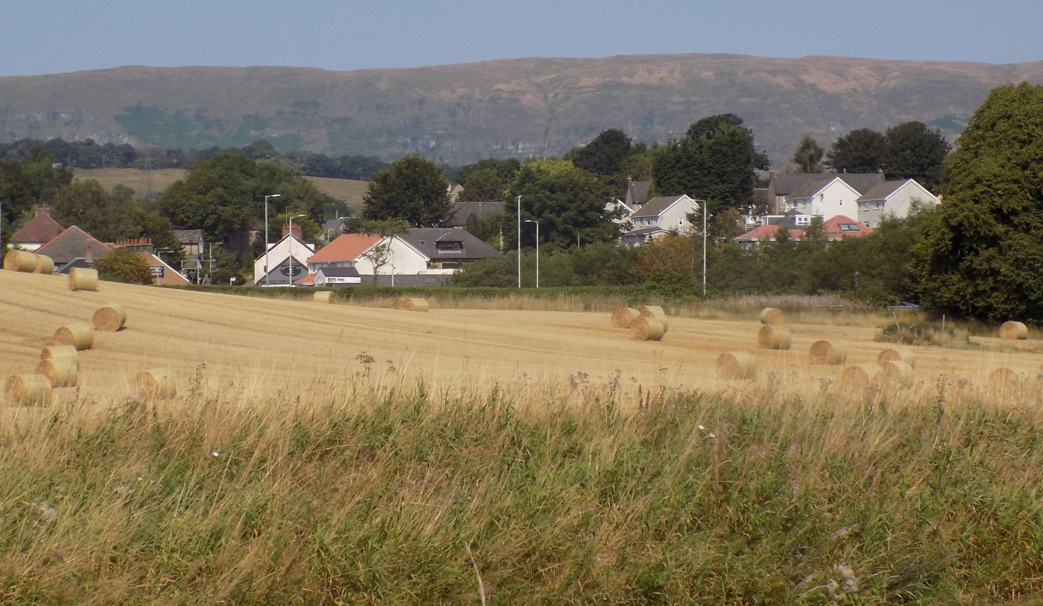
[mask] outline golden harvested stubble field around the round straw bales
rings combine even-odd
[[[345,384],[378,381],[425,383],[467,390],[498,382],[551,390],[576,383],[622,389],[685,388],[742,395],[770,389],[812,395],[836,393],[843,367],[811,367],[808,347],[819,338],[843,345],[848,364],[872,362],[890,345],[867,326],[794,323],[789,351],[757,350],[760,324],[749,318],[671,318],[660,343],[633,342],[613,329],[606,312],[434,308],[430,313],[348,304],[320,305],[209,293],[189,293],[102,282],[98,292],[70,292],[64,276],[0,272],[0,378],[31,373],[54,330],[89,322],[95,309],[118,302],[126,328],[97,332],[80,354],[81,397],[107,400],[131,395],[136,373],[168,367],[178,388],[268,397],[280,392],[328,398]],[[914,348],[916,385],[908,399],[930,399],[940,379],[969,381],[984,389],[998,367],[1038,369],[1039,342],[1004,349],[998,338],[978,348]],[[753,353],[757,378],[715,377],[717,356]],[[362,360],[371,358],[368,363]],[[1035,371],[1033,371],[1035,372]],[[193,387],[195,384],[195,387]]]

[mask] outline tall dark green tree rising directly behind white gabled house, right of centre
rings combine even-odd
[[[662,195],[687,194],[718,204],[745,206],[753,199],[755,169],[768,158],[753,147],[753,132],[733,113],[704,118],[684,138],[654,150],[652,176]]]

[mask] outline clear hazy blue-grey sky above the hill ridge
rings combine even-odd
[[[1039,0],[5,0],[0,75],[616,54],[1043,59]]]

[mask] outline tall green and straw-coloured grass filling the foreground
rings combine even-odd
[[[26,410],[0,436],[0,601],[1041,597],[1035,396],[571,383]]]

